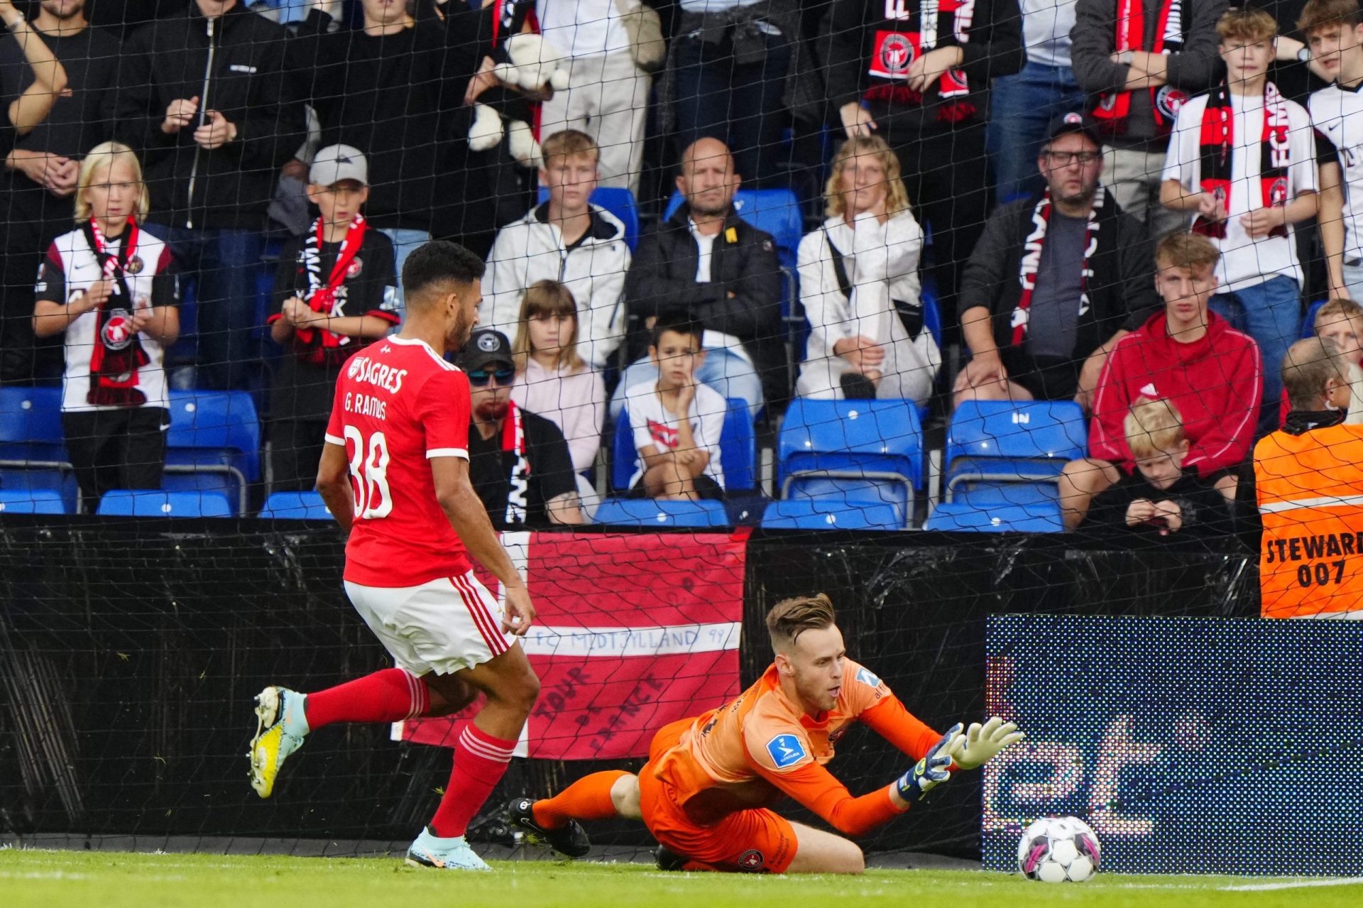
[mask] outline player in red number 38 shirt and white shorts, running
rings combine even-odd
[[[266,687],[249,754],[251,784],[269,798],[284,761],[323,725],[442,716],[484,694],[440,806],[408,849],[408,863],[450,870],[488,870],[463,833],[540,693],[517,639],[534,607],[469,484],[469,380],[443,359],[477,323],[483,270],[454,243],[412,252],[402,330],[346,363],[318,466],[318,491],[350,534],[346,593],[397,667],[312,694]],[[502,582],[504,611],[470,555]]]

